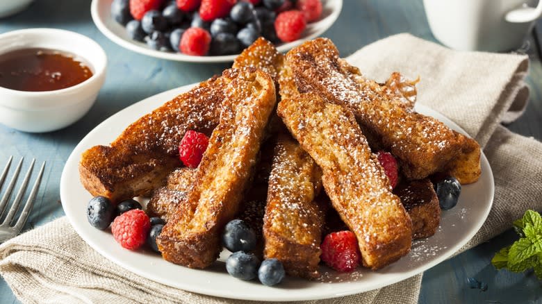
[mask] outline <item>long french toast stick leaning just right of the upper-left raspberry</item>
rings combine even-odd
[[[165,260],[205,268],[218,257],[220,233],[237,214],[265,126],[277,102],[272,78],[255,69],[229,69],[220,123],[213,130],[186,208],[177,210],[156,243]]]

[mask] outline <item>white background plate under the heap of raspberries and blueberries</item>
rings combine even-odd
[[[183,53],[163,52],[149,49],[147,44],[131,40],[126,33],[124,26],[115,22],[115,19],[111,17],[110,13],[111,2],[113,2],[113,0],[92,0],[90,12],[92,20],[94,20],[94,23],[101,33],[104,33],[106,37],[113,40],[113,42],[119,44],[121,47],[147,56],[186,62],[231,62],[237,57],[237,55],[189,56],[184,55]],[[289,49],[302,44],[302,42],[314,39],[327,31],[338,18],[340,9],[343,8],[343,0],[322,0],[322,6],[322,17],[320,20],[318,22],[307,24],[301,39],[277,45],[279,52],[286,52]]]

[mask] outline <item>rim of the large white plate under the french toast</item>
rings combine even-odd
[[[129,105],[128,107],[120,110],[119,112],[116,112],[115,114],[111,115],[110,117],[108,117],[107,119],[102,121],[95,128],[90,130],[90,132],[87,135],[85,135],[85,137],[83,137],[83,139],[81,139],[81,141],[75,146],[74,150],[72,151],[72,153],[70,153],[69,158],[65,162],[65,167],[63,168],[62,175],[60,177],[60,201],[62,202],[63,210],[64,210],[64,212],[66,214],[66,217],[68,218],[69,223],[72,225],[74,230],[76,230],[76,233],[78,233],[78,235],[80,235],[81,238],[90,247],[92,247],[95,251],[97,251],[100,255],[104,256],[106,259],[108,259],[109,261],[117,264],[118,266],[122,267],[126,271],[131,271],[132,273],[136,273],[138,276],[142,276],[143,278],[153,280],[154,282],[158,282],[158,283],[161,283],[163,285],[167,285],[167,286],[174,287],[174,288],[179,288],[179,289],[185,290],[187,292],[195,292],[195,293],[198,293],[198,294],[205,294],[205,295],[208,295],[208,296],[218,296],[218,297],[222,297],[222,298],[231,298],[231,299],[249,300],[249,301],[279,301],[279,302],[280,301],[311,301],[311,300],[318,300],[318,299],[325,299],[325,298],[335,298],[335,297],[339,297],[339,296],[348,296],[348,295],[352,295],[352,294],[359,294],[359,293],[362,293],[362,292],[369,292],[371,290],[378,289],[378,288],[381,288],[381,287],[386,287],[388,285],[393,285],[396,282],[400,282],[402,280],[407,280],[408,278],[416,276],[417,274],[422,273],[423,271],[426,271],[427,269],[431,269],[436,264],[439,264],[439,263],[443,262],[444,260],[447,260],[448,258],[452,257],[454,255],[454,253],[457,253],[457,251],[461,247],[463,247],[465,244],[467,244],[470,241],[470,239],[472,239],[475,236],[475,234],[480,230],[480,228],[482,228],[482,226],[484,225],[484,223],[485,223],[485,221],[486,221],[486,219],[488,217],[489,212],[491,211],[491,208],[493,207],[493,200],[494,200],[494,195],[495,195],[495,182],[494,182],[494,179],[493,179],[493,171],[491,169],[491,166],[490,166],[486,156],[484,155],[484,152],[481,151],[480,160],[482,162],[482,167],[484,168],[483,172],[485,172],[483,174],[488,174],[487,178],[488,178],[488,180],[490,182],[491,187],[490,187],[489,192],[488,192],[488,194],[489,194],[488,195],[488,204],[486,205],[486,209],[484,210],[483,216],[476,222],[475,228],[470,230],[469,233],[465,237],[463,237],[461,242],[457,242],[457,244],[454,244],[454,246],[451,246],[450,249],[447,250],[447,252],[450,252],[450,254],[441,255],[441,256],[437,257],[436,259],[434,259],[434,260],[431,260],[431,261],[429,261],[429,262],[427,262],[425,264],[420,265],[420,267],[416,267],[415,269],[411,269],[409,271],[404,271],[403,273],[400,273],[399,275],[397,275],[396,278],[393,278],[393,279],[388,280],[386,282],[381,282],[379,284],[371,285],[370,288],[363,289],[361,291],[356,290],[356,289],[352,289],[349,292],[340,292],[340,293],[329,292],[328,294],[325,294],[325,295],[321,295],[321,294],[315,294],[315,295],[308,294],[307,295],[307,294],[305,294],[304,296],[281,296],[281,297],[270,298],[270,299],[261,298],[261,296],[239,296],[238,294],[235,293],[235,291],[224,294],[224,293],[220,293],[220,292],[215,292],[215,291],[213,291],[213,289],[194,287],[192,285],[186,285],[186,284],[184,284],[184,285],[183,284],[172,285],[170,282],[168,282],[164,278],[161,278],[161,276],[154,275],[154,274],[149,275],[149,273],[147,273],[146,271],[140,271],[137,268],[134,268],[133,265],[131,265],[129,262],[125,262],[122,259],[118,259],[113,254],[109,253],[108,251],[102,250],[100,246],[97,246],[95,244],[94,239],[88,239],[88,235],[86,235],[85,231],[81,228],[82,226],[79,226],[78,223],[75,222],[76,219],[70,216],[71,215],[70,212],[66,212],[66,210],[67,210],[66,209],[67,208],[66,197],[68,196],[68,194],[67,194],[68,190],[67,189],[69,188],[69,187],[67,187],[67,184],[69,184],[69,181],[67,180],[66,176],[67,176],[67,170],[70,169],[68,164],[73,163],[74,160],[75,160],[75,162],[77,164],[79,164],[80,155],[79,155],[79,153],[76,154],[76,151],[79,151],[79,150],[82,149],[82,146],[83,146],[83,144],[85,144],[85,139],[87,137],[91,137],[94,133],[99,132],[101,130],[101,128],[104,128],[104,126],[106,126],[107,124],[110,124],[110,121],[114,120],[117,117],[120,117],[120,115],[122,115],[124,112],[129,112],[131,109],[136,108],[138,106],[141,106],[142,103],[152,103],[154,101],[154,99],[158,99],[158,98],[162,98],[162,97],[166,97],[166,96],[170,96],[170,97],[176,96],[176,94],[181,94],[182,92],[186,92],[186,91],[190,90],[190,88],[194,87],[195,85],[197,85],[197,83],[192,83],[190,85],[183,85],[181,87],[176,87],[174,89],[167,90],[165,92],[154,94],[154,95],[149,96],[149,97],[147,97],[145,99],[142,99],[141,101],[138,101],[137,103],[133,103],[132,105]],[[163,99],[163,100],[167,101],[169,99]],[[432,116],[432,117],[434,117],[434,115],[445,117],[445,115],[442,115],[440,112],[437,112],[436,110],[432,110],[431,108],[429,108],[429,107],[427,107],[425,105],[417,104],[416,109],[417,110],[421,109],[422,110],[421,112],[424,112],[425,115],[429,115],[429,116]],[[457,124],[455,124],[454,121],[448,119],[447,117],[445,117],[445,119],[447,119],[447,121],[445,122],[445,124],[447,126],[450,126],[451,128],[459,130],[460,133],[469,136],[461,127],[459,127]],[[451,123],[451,124],[448,124],[448,122]],[[76,183],[81,183],[81,182],[79,180],[77,180]],[[198,269],[197,271],[204,271],[204,270]],[[180,287],[181,285],[183,285],[183,287]]]

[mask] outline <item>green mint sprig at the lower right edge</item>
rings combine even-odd
[[[513,272],[534,269],[542,280],[542,217],[539,212],[527,210],[522,219],[514,221],[514,230],[520,236],[514,244],[502,248],[491,260],[495,268]]]

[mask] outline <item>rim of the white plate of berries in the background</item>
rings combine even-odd
[[[179,62],[199,62],[199,63],[216,63],[216,62],[233,62],[235,58],[239,54],[235,55],[225,55],[225,56],[189,56],[184,55],[182,53],[170,53],[170,52],[163,52],[163,51],[156,51],[153,49],[148,49],[147,47],[142,47],[134,42],[124,40],[122,37],[119,37],[113,31],[108,28],[108,26],[101,20],[100,13],[99,13],[99,4],[102,1],[109,1],[109,0],[92,0],[92,3],[90,3],[90,15],[92,17],[92,22],[97,26],[99,31],[104,34],[106,37],[108,37],[109,40],[115,42],[115,44],[119,45],[120,47],[123,47],[124,49],[129,49],[130,51],[140,53],[145,56],[150,56],[154,58],[161,58],[165,60],[173,60],[173,61],[179,61]],[[343,0],[327,0],[327,1],[334,1],[334,6],[336,7],[336,10],[333,10],[329,16],[327,16],[325,19],[322,19],[318,22],[315,22],[315,24],[322,22],[322,28],[318,31],[315,31],[315,33],[312,33],[311,35],[308,35],[306,37],[303,37],[299,40],[295,40],[294,42],[288,42],[286,44],[281,44],[279,47],[277,47],[277,50],[281,53],[284,53],[290,49],[293,49],[294,47],[297,47],[299,44],[302,44],[303,42],[306,42],[308,40],[312,40],[315,37],[318,37],[319,35],[322,35],[322,33],[325,33],[338,19],[340,12],[343,10]]]

